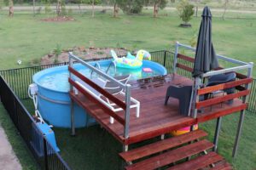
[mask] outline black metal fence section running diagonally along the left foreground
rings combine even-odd
[[[44,134],[36,126],[36,122],[33,121],[30,113],[2,76],[0,76],[0,99],[15,127],[19,130],[20,136],[38,161],[39,167],[46,170],[69,170],[67,163],[62,160],[61,156],[49,144]]]

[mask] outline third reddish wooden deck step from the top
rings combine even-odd
[[[190,161],[185,161],[181,164],[177,164],[176,166],[170,167],[167,170],[197,170],[203,167],[207,167],[212,163],[222,161],[223,159],[224,158],[222,156],[219,156],[216,152],[210,152],[207,155],[198,156]]]

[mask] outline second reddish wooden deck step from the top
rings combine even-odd
[[[194,156],[195,154],[201,153],[204,150],[211,149],[214,144],[203,139],[193,144],[188,144],[175,150],[169,150],[159,156],[153,156],[144,161],[139,161],[135,164],[125,167],[126,170],[150,170],[159,167],[164,167],[173,162],[180,161],[188,156]]]

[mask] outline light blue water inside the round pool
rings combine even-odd
[[[143,71],[143,68],[150,68],[151,72],[145,72]],[[86,77],[97,77],[96,73],[92,73],[89,69],[86,69],[85,67],[79,67],[78,70],[80,73],[82,73]],[[101,70],[103,72],[106,72],[108,70],[108,65],[102,65]],[[147,77],[156,77],[163,75],[161,71],[154,67],[150,67],[148,65],[144,65],[139,69],[133,70],[133,69],[124,69],[117,67],[116,70],[114,66],[111,66],[108,70],[108,75],[111,77],[117,77],[117,76],[125,76],[131,74],[130,80],[137,80]],[[91,76],[90,76],[91,75]],[[40,77],[38,80],[39,84],[45,88],[49,88],[52,90],[58,90],[61,92],[67,92],[69,90],[69,83],[67,82],[69,77],[68,71],[54,71],[50,74],[45,74],[43,77]]]

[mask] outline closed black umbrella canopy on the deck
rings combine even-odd
[[[201,17],[193,77],[200,77],[201,74],[218,67],[218,59],[212,45],[212,14],[210,8],[205,7]]]

